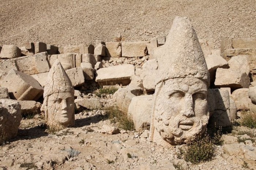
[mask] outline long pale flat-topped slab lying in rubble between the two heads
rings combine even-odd
[[[132,75],[135,75],[135,69],[133,65],[117,65],[97,70],[95,81],[102,85],[128,85],[131,82],[130,78]]]

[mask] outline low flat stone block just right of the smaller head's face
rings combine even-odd
[[[75,99],[76,107],[84,107],[90,110],[97,110],[102,108],[102,105],[97,98],[82,98]]]

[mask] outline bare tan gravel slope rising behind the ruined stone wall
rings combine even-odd
[[[1,0],[0,46],[149,40],[175,16],[191,18],[199,38],[256,37],[255,0]]]

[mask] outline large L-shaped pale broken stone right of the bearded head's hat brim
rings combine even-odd
[[[249,88],[250,78],[247,58],[243,56],[232,57],[228,64],[229,69],[217,69],[215,86]]]

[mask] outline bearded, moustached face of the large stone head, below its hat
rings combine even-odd
[[[208,119],[207,84],[197,78],[159,83],[155,94],[155,128],[170,144],[180,144],[204,132]]]

